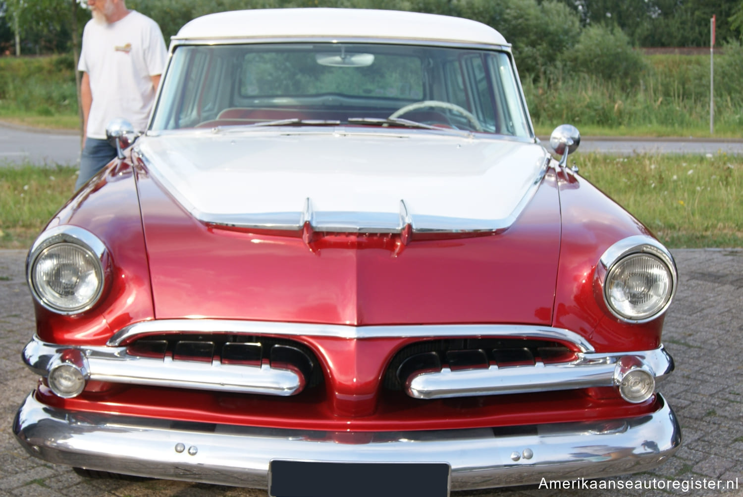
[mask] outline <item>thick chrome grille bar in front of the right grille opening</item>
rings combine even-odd
[[[493,365],[464,371],[444,367],[413,374],[406,380],[405,390],[417,399],[441,399],[615,386],[617,368],[626,357],[639,361],[658,380],[673,370],[673,361],[662,346],[652,351],[577,355],[571,363],[537,361],[533,366]]]

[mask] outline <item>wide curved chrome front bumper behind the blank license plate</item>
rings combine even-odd
[[[55,409],[30,394],[13,431],[37,458],[130,475],[266,488],[273,459],[446,462],[451,490],[467,490],[655,467],[681,444],[678,420],[660,394],[658,405],[637,418],[519,427],[520,434],[500,429],[369,434],[207,423],[186,428],[168,420]]]

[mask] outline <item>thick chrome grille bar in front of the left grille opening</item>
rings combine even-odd
[[[26,366],[46,377],[55,357],[65,351],[81,351],[90,380],[167,388],[218,390],[286,397],[302,392],[305,377],[298,371],[274,368],[267,364],[247,366],[154,359],[129,355],[126,347],[77,347],[42,342],[33,337],[23,349]]]

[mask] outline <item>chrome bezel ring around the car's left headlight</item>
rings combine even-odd
[[[88,303],[88,305],[85,305],[82,308],[74,309],[72,311],[64,311],[51,305],[36,290],[36,287],[33,284],[33,267],[34,264],[36,264],[36,259],[39,258],[39,255],[41,255],[41,253],[45,249],[59,243],[77,244],[79,247],[82,247],[83,249],[91,253],[91,255],[94,256],[94,258],[97,260],[98,264],[100,264],[100,271],[103,279],[94,299],[92,299],[91,302]],[[108,249],[106,248],[106,244],[104,244],[103,241],[100,240],[100,238],[81,227],[63,224],[61,226],[53,227],[50,230],[46,230],[44,233],[39,235],[39,238],[36,238],[36,241],[33,242],[33,245],[28,251],[28,256],[26,259],[26,282],[28,284],[28,288],[30,288],[31,290],[31,295],[36,300],[36,302],[39,302],[39,304],[48,311],[52,311],[56,314],[62,314],[63,316],[80,314],[82,312],[88,311],[88,309],[96,305],[97,302],[100,300],[100,297],[103,296],[103,291],[106,289],[108,282],[110,282],[111,279],[111,271],[108,259]]]

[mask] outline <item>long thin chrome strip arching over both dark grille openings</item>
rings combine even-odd
[[[588,340],[574,331],[535,325],[397,325],[351,326],[316,325],[305,322],[239,321],[234,319],[157,319],[135,322],[114,334],[106,345],[117,347],[143,335],[229,333],[241,335],[282,335],[367,338],[435,337],[519,337],[555,340],[574,344],[581,352],[593,352]]]

